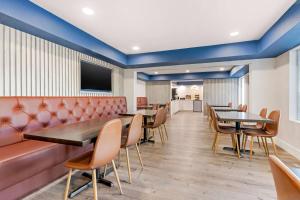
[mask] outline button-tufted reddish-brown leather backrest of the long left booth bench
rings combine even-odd
[[[0,147],[27,132],[126,112],[125,97],[0,97]]]

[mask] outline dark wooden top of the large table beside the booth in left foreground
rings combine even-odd
[[[123,126],[131,123],[132,117],[120,117]],[[25,139],[85,146],[97,138],[100,130],[108,119],[93,119],[69,125],[59,125],[53,128],[24,134]]]

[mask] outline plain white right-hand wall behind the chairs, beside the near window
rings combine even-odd
[[[250,64],[250,111],[258,113],[262,107],[268,112],[281,111],[277,144],[300,159],[300,123],[289,119],[290,88],[289,52],[276,59],[262,59]]]

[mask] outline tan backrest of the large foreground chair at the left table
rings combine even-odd
[[[108,121],[98,135],[93,157],[90,162],[92,169],[110,163],[120,151],[122,122],[120,119]]]

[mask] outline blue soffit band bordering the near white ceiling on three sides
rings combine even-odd
[[[300,1],[256,41],[126,55],[28,0],[1,0],[0,23],[123,68],[276,57],[300,44]]]

